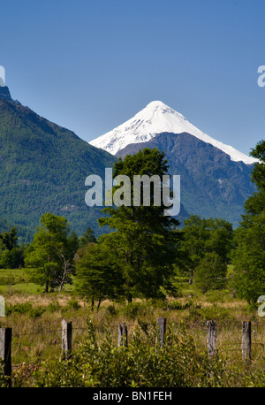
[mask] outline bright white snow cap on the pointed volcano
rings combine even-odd
[[[133,118],[125,121],[124,124],[117,126],[112,131],[103,134],[89,143],[96,148],[107,150],[112,155],[116,155],[117,151],[124,149],[125,146],[131,143],[146,142],[154,138],[155,135],[163,132],[181,134],[192,134],[196,138],[201,139],[223,150],[231,157],[232,161],[243,161],[245,164],[254,164],[257,159],[248,157],[239,150],[234,149],[230,145],[216,141],[208,134],[204,134],[200,129],[193,126],[182,114],[172,110],[168,105],[161,101],[153,101],[134,115]]]

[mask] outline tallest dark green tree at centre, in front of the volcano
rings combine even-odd
[[[134,175],[158,175],[162,179],[168,170],[164,153],[158,149],[143,149],[133,156],[127,155],[114,165],[113,177],[126,175],[131,180],[131,197]],[[118,187],[113,187],[113,194]],[[178,220],[163,215],[165,206],[155,205],[155,187],[150,187],[150,205],[143,204],[144,188],[140,189],[140,205],[120,205],[103,210],[109,216],[99,220],[100,225],[109,225],[114,232],[105,235],[102,242],[114,252],[122,269],[125,296],[128,302],[133,297],[163,296],[163,288],[172,287],[170,277],[176,249],[174,239],[178,233],[173,229]]]

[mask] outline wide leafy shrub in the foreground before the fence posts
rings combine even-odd
[[[88,325],[88,339],[79,344],[68,361],[43,363],[34,373],[34,386],[100,387],[192,387],[224,386],[225,364],[217,356],[197,353],[193,339],[185,332],[173,332],[170,325],[163,348],[155,350],[153,340],[136,330],[128,348],[117,348],[106,331],[101,343]]]

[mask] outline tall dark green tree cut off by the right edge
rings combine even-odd
[[[258,142],[250,154],[259,159],[252,172],[257,191],[246,200],[233,255],[234,284],[249,303],[265,292],[265,141]]]

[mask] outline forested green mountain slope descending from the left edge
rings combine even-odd
[[[88,225],[97,233],[102,209],[87,207],[85,180],[89,174],[104,179],[105,167],[117,158],[6,94],[0,97],[0,232],[7,221],[28,241],[50,211],[67,218],[77,233]]]

